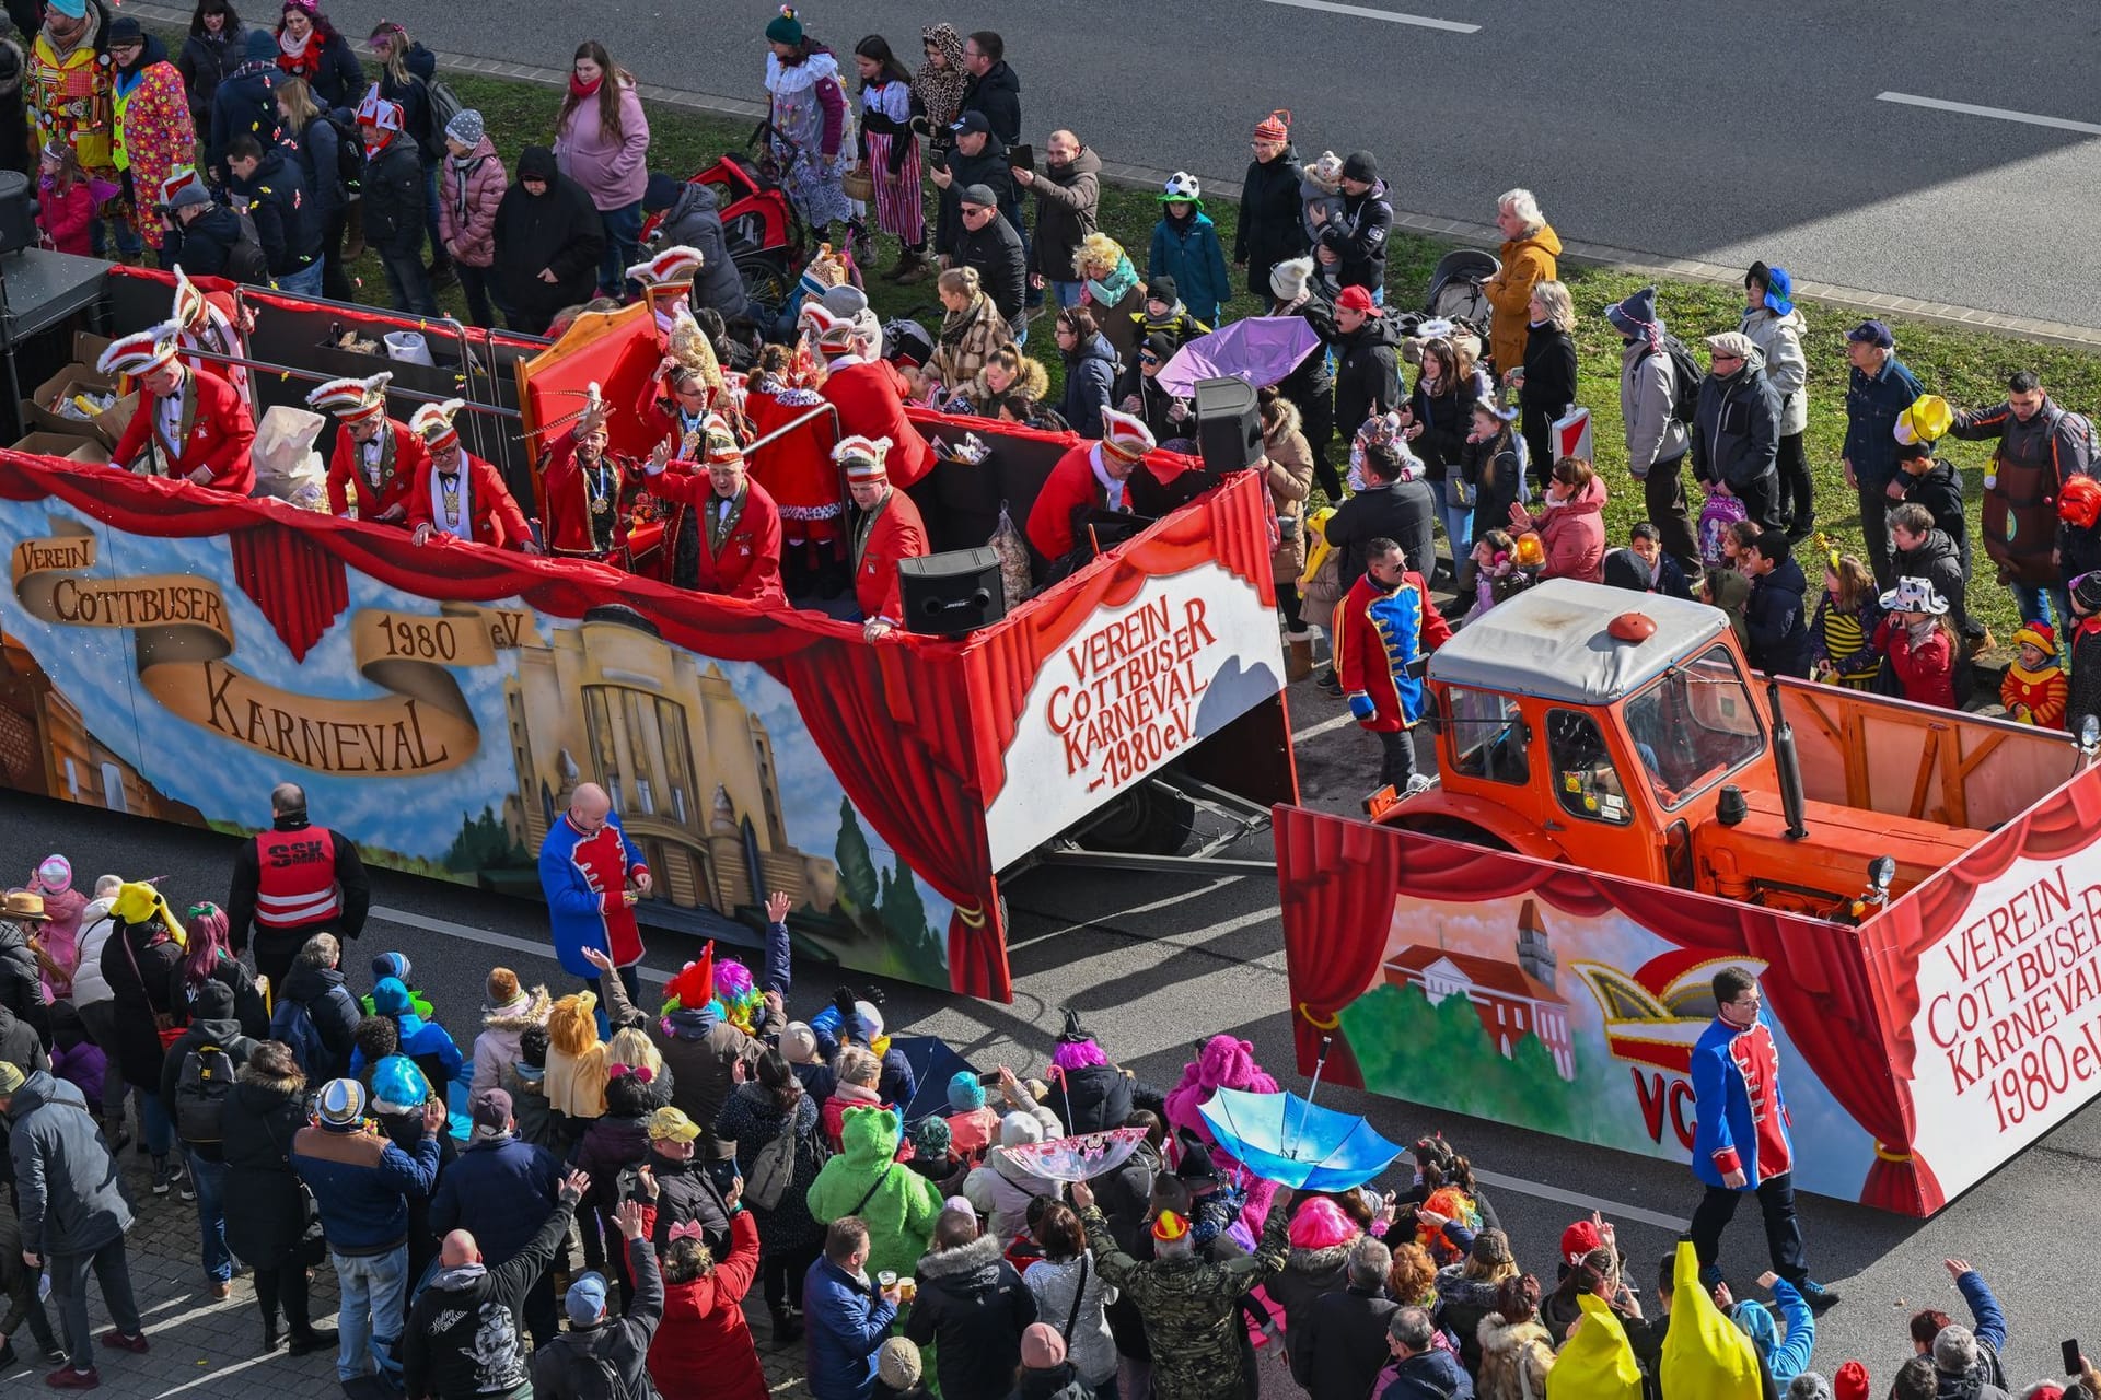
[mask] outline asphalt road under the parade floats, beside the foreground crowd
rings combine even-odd
[[[1301,733],[1338,712],[1334,701],[1296,686]],[[1301,781],[1311,804],[1345,810],[1376,764],[1376,745],[1353,726],[1317,733],[1301,745]],[[326,821],[326,812],[319,812]],[[19,877],[50,850],[74,861],[80,877],[116,869],[164,875],[174,903],[225,898],[231,840],[63,804],[0,798],[0,875]],[[1265,856],[1263,840],[1237,854]],[[889,987],[893,1031],[945,1037],[979,1066],[1044,1064],[1074,1005],[1109,1052],[1153,1083],[1174,1083],[1198,1039],[1227,1031],[1256,1045],[1258,1058],[1288,1087],[1292,1073],[1282,930],[1275,886],[1263,877],[1109,875],[1038,871],[1008,888],[1015,928],[1015,1003],[962,1001],[918,987]],[[532,903],[485,896],[460,886],[376,871],[376,917],[347,959],[353,984],[374,953],[399,949],[416,980],[464,1041],[475,1028],[483,974],[515,968],[527,982],[563,987],[546,947],[544,911]],[[651,936],[647,968],[672,972],[698,949]],[[790,1005],[815,1010],[830,999],[836,974],[800,966]],[[1637,1282],[1651,1297],[1653,1266],[1698,1201],[1679,1167],[1509,1129],[1496,1123],[1431,1115],[1410,1104],[1343,1089],[1322,1102],[1366,1112],[1397,1142],[1441,1129],[1498,1178],[1492,1199],[1511,1230],[1521,1264],[1553,1278],[1561,1228],[1593,1201],[1620,1222],[1637,1261]],[[1807,1150],[1815,1150],[1813,1144]],[[1916,1224],[1851,1205],[1803,1199],[1811,1259],[1819,1278],[1847,1301],[1819,1327],[1815,1364],[1830,1373],[1857,1356],[1878,1387],[1908,1354],[1910,1310],[1933,1303],[1962,1316],[1943,1257],[1967,1257],[2000,1291],[2013,1318],[2006,1350],[2017,1381],[2055,1373],[2063,1337],[2101,1339],[2090,1312],[2093,1240],[2101,1238],[2101,1199],[2090,1190],[2101,1161],[2101,1108],[2088,1108],[2025,1157],[1983,1182],[1937,1219]],[[1740,1291],[1763,1270],[1756,1213],[1740,1215],[1725,1264]]]

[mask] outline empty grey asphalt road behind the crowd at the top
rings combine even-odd
[[[761,31],[775,15],[769,0],[328,8],[353,36],[393,15],[443,52],[544,67],[599,38],[649,82],[746,101],[763,97]],[[1038,145],[1072,126],[1111,160],[1240,178],[1252,124],[1290,107],[1301,153],[1370,147],[1410,212],[1485,225],[1500,191],[1527,185],[1563,237],[1725,264],[1765,258],[1798,279],[2101,325],[2088,237],[2101,193],[2093,6],[819,0],[803,15],[843,52],[882,34],[908,63],[935,19],[998,29],[1021,78],[1023,134]]]

